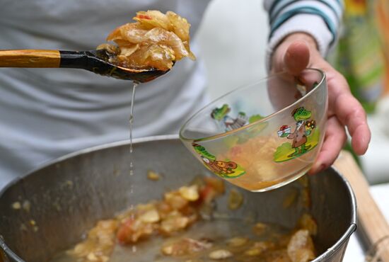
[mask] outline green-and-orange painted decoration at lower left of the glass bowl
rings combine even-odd
[[[193,142],[192,147],[201,157],[204,166],[221,178],[237,178],[245,174],[244,169],[236,162],[229,161],[228,159],[225,161],[217,160],[216,156],[207,152],[205,147],[200,144]]]

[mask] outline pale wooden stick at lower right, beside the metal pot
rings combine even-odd
[[[377,252],[381,261],[389,262],[389,225],[369,191],[369,185],[352,154],[342,152],[334,164],[351,184],[356,197],[358,227],[366,234],[371,245],[386,237],[377,244]]]

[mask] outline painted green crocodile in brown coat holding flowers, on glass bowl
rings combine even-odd
[[[274,153],[274,161],[282,162],[295,159],[313,149],[318,144],[319,130],[316,121],[311,119],[312,112],[304,107],[296,108],[292,113],[296,121],[296,127],[282,125],[277,134],[281,138],[291,139],[290,142],[281,144]]]

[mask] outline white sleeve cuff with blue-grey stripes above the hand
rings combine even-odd
[[[274,47],[291,33],[312,35],[323,57],[335,45],[344,9],[342,0],[265,0],[264,6],[270,24],[268,65]]]

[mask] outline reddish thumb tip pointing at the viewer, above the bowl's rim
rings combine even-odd
[[[303,40],[291,42],[284,55],[284,69],[296,76],[308,67],[309,60],[310,50],[308,44]]]

